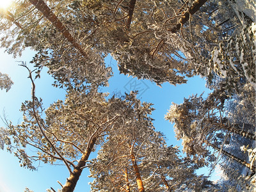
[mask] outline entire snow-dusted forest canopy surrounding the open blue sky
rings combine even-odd
[[[74,191],[86,168],[91,191],[254,188],[255,10],[246,0],[13,1],[0,10],[1,47],[14,58],[25,49],[36,53],[33,68],[20,63],[31,100],[22,103],[20,124],[4,119],[1,148],[29,170],[38,162],[64,164],[69,175],[60,191]],[[165,115],[184,155],[166,145],[154,127],[153,104],[138,92],[99,91],[115,76],[105,63],[109,55],[121,74],[158,86],[205,78],[209,95],[172,103]],[[35,93],[43,68],[67,92],[47,109]],[[12,84],[0,72],[1,90]],[[218,182],[196,174],[217,164]]]

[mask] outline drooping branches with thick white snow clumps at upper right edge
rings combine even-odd
[[[247,26],[241,34],[231,36],[212,51],[209,67],[225,79],[228,92],[234,92],[237,83],[244,81],[255,88],[256,27]]]

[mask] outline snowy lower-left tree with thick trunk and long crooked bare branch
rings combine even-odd
[[[26,67],[24,63],[23,66]],[[42,100],[35,95],[30,70],[29,78],[32,82],[32,99],[22,104],[24,121],[13,125],[6,120],[7,127],[1,128],[0,138],[4,140],[6,149],[19,158],[20,166],[30,170],[36,169],[36,162],[59,164],[61,161],[70,173],[61,190],[74,191],[95,147],[102,145],[106,136],[116,134],[118,129],[131,129],[129,122],[124,119],[129,114],[132,118],[130,112],[134,106],[129,98],[135,95],[126,95],[126,100],[106,100],[107,95],[97,90],[69,90],[65,101],[58,100],[44,111]],[[141,110],[141,116],[149,112]],[[42,117],[44,113],[45,118]],[[35,152],[31,153],[28,148],[33,148]]]

